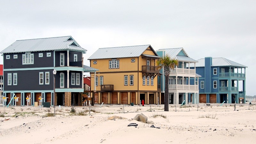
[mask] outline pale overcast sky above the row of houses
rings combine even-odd
[[[103,47],[183,47],[195,60],[224,57],[247,66],[246,95],[256,95],[255,0],[5,0],[0,4],[0,51],[16,40],[57,36],[72,36],[87,50],[86,59]]]

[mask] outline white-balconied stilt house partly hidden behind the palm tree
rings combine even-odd
[[[183,48],[159,49],[156,51],[158,56],[168,55],[176,59],[179,65],[171,70],[169,75],[169,104],[197,104],[199,101],[198,77],[196,70],[191,69],[191,64],[196,65],[196,60],[190,58]],[[161,73],[164,74],[163,68]],[[164,75],[161,76],[161,103],[164,103]]]

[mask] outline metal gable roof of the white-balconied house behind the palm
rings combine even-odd
[[[158,51],[165,51],[165,54],[168,54],[169,57],[178,61],[197,62],[196,60],[190,58],[183,48],[159,49],[157,52]],[[184,55],[179,55],[180,52],[183,52]]]

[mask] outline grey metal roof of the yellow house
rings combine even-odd
[[[158,56],[151,45],[137,45],[99,48],[88,58],[88,60],[139,57],[148,47],[155,53],[156,56]]]

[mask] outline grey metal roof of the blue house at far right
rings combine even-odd
[[[198,63],[196,63],[196,67],[204,67],[205,66],[204,60],[205,59],[197,60]],[[220,67],[220,66],[235,66],[235,67],[247,68],[247,66],[239,64],[232,60],[228,60],[226,58],[212,58],[212,67]],[[194,64],[191,64],[190,67],[195,67],[195,66]]]

